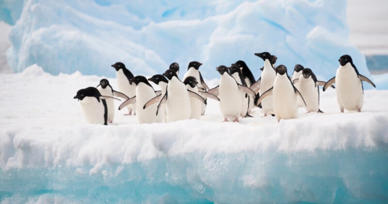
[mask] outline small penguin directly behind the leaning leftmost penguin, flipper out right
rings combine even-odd
[[[104,96],[110,97],[120,97],[124,100],[129,99],[129,97],[121,92],[113,90],[112,86],[109,84],[107,79],[101,79],[100,84],[97,85],[97,90]],[[114,119],[114,101],[111,98],[106,99],[106,104],[108,106],[108,122],[112,123]]]

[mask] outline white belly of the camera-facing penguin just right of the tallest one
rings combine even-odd
[[[298,116],[296,94],[286,74],[276,77],[274,82],[273,102],[277,119],[294,119]]]

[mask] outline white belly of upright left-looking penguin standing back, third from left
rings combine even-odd
[[[117,87],[121,93],[127,95],[129,98],[136,95],[136,85],[134,83],[132,83],[132,85],[129,84],[128,78],[125,76],[122,69],[116,71],[116,78]],[[136,104],[129,104],[127,105],[127,108],[132,114],[136,113]]]

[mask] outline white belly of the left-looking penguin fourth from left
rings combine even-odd
[[[140,83],[136,87],[136,120],[138,124],[162,122],[162,114],[156,115],[158,103],[143,109],[144,104],[156,96],[150,86]]]

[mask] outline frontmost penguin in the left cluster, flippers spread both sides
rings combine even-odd
[[[186,86],[178,78],[177,73],[172,69],[167,69],[163,76],[167,77],[168,84],[166,93],[162,96],[156,96],[150,101],[146,102],[143,109],[159,101],[156,115],[158,115],[160,107],[163,103],[166,104],[166,120],[167,122],[174,122],[182,119],[190,119],[191,104],[190,97],[194,97],[206,104],[204,98],[187,90]],[[162,97],[162,98],[161,98]]]

